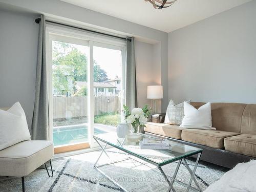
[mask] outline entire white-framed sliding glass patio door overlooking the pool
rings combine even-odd
[[[48,39],[55,154],[93,147],[92,136],[115,132],[122,118],[125,47],[63,30]]]

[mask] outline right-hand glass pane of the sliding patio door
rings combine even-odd
[[[94,134],[116,132],[123,97],[122,50],[94,44]]]

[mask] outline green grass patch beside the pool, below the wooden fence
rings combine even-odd
[[[121,121],[121,115],[115,113],[105,113],[102,115],[95,115],[94,122],[106,125],[117,126]]]

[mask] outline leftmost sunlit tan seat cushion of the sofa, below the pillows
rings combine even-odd
[[[146,123],[145,132],[154,133],[174,139],[181,139],[181,131],[185,128],[179,127],[178,125],[169,125],[165,123]]]

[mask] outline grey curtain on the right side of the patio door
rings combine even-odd
[[[137,105],[135,46],[132,37],[131,41],[127,40],[126,47],[126,106],[132,110]]]

